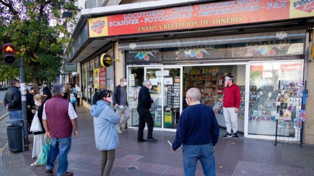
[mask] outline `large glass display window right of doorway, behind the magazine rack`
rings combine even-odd
[[[281,126],[283,133],[280,136],[297,137],[298,131],[293,127],[294,117],[297,116],[301,108],[301,98],[297,98],[298,82],[302,80],[301,61],[289,62],[261,62],[252,63],[250,66],[250,98],[249,98],[249,123],[248,134],[275,136],[276,134],[276,114],[284,117]],[[286,86],[293,89],[284,89]],[[295,88],[294,88],[295,87]],[[277,107],[279,97],[283,99],[282,106]]]

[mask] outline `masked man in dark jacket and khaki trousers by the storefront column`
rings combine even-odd
[[[123,114],[123,117],[121,116],[120,123],[117,123],[117,130],[119,134],[123,134],[125,130],[125,125],[128,119],[130,118],[130,109],[128,107],[128,102],[127,102],[127,96],[126,96],[126,79],[121,78],[120,79],[120,85],[118,85],[114,91],[113,91],[113,104],[116,109],[116,113],[121,116]]]

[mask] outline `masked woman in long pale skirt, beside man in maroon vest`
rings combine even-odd
[[[38,107],[37,109],[37,116],[38,119],[40,121],[40,125],[41,125],[41,129],[42,131],[38,131],[38,132],[34,132],[34,141],[33,141],[33,152],[32,152],[32,158],[35,158],[39,155],[41,147],[44,144],[44,140],[45,140],[45,128],[43,125],[43,121],[42,121],[42,114],[43,114],[43,110],[44,110],[44,104],[45,104],[45,97],[40,95],[40,94],[36,94],[34,96],[34,104]],[[36,110],[32,110],[32,113],[35,114]],[[37,162],[37,160],[31,164],[31,166],[40,166],[41,164],[39,164]]]

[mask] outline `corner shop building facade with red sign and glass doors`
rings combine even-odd
[[[246,137],[288,138],[314,143],[307,108],[313,101],[311,2],[154,1],[82,10],[67,58],[81,63],[84,104],[93,94],[128,80],[137,127],[137,93],[149,79],[154,129],[175,131],[187,106],[185,92],[197,87],[225,126],[222,104],[225,76],[241,88],[239,131]],[[102,67],[102,55],[113,61]],[[305,92],[308,90],[308,97]],[[302,126],[301,121],[304,121]],[[304,132],[304,134],[302,134]]]

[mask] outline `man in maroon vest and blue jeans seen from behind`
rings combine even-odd
[[[72,172],[67,171],[67,154],[71,148],[72,128],[74,128],[74,137],[78,136],[77,115],[72,104],[62,98],[64,95],[63,84],[55,84],[52,93],[53,97],[44,104],[42,116],[46,137],[51,138],[52,141],[46,173],[53,173],[53,162],[59,154],[57,175],[73,175]]]

